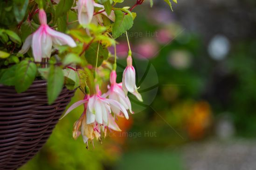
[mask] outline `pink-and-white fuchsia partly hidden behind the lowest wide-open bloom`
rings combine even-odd
[[[131,102],[128,96],[125,96],[125,92],[122,89],[122,83],[117,83],[117,73],[116,71],[112,71],[110,74],[110,83],[111,86],[108,86],[108,92],[106,92],[103,97],[109,97],[112,100],[118,101],[121,105],[125,107],[126,110],[129,110],[131,113]],[[122,116],[120,109],[116,107],[111,107],[111,110],[117,114]]]

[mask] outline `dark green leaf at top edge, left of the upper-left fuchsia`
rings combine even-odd
[[[15,19],[19,23],[24,19],[29,0],[14,0],[13,2]]]

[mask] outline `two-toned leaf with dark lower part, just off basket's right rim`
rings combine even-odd
[[[63,70],[63,73],[65,77],[65,86],[67,87],[67,89],[74,90],[80,85],[79,76],[76,71],[67,68]]]

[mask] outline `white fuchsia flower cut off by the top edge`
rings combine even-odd
[[[92,20],[94,13],[94,0],[78,0],[76,5],[78,9],[78,22],[85,27]]]

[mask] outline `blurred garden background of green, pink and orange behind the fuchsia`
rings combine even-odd
[[[131,6],[135,0],[127,2]],[[163,0],[136,7],[129,37],[144,103],[89,150],[62,119],[21,170],[254,170],[256,1]],[[120,81],[125,36],[118,39]],[[78,91],[72,99],[83,98]]]

